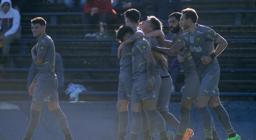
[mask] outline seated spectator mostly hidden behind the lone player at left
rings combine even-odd
[[[37,66],[34,62],[31,63],[31,67],[29,68],[29,74],[27,76],[27,89],[31,85],[35,75],[36,75]],[[55,73],[58,78],[58,95],[59,98],[62,97],[64,93],[64,70],[63,70],[63,63],[60,54],[57,52],[55,53]]]

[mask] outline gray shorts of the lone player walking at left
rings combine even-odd
[[[45,105],[49,102],[59,102],[58,79],[38,80],[34,90],[32,103]]]

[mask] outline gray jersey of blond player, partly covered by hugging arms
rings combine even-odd
[[[157,41],[156,38],[153,38],[153,37],[148,37],[148,39],[150,39],[150,43],[154,46],[159,46],[159,43]],[[165,46],[160,46],[160,47],[164,47],[166,48]],[[166,60],[167,60],[167,56],[165,56]],[[158,66],[158,69],[157,71],[154,70],[155,72],[159,72],[158,74],[160,74],[160,76],[170,76],[169,72],[168,72],[168,66],[166,66],[165,68],[163,68],[163,63],[160,59],[158,59],[157,57],[155,57],[155,60],[157,62],[157,66]],[[168,64],[168,63],[167,63]]]

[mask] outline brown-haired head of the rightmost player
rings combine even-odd
[[[187,8],[181,11],[181,21],[180,24],[183,30],[187,30],[190,25],[197,22],[198,16],[194,9]]]

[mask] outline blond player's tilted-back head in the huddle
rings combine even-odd
[[[148,16],[146,21],[141,22],[140,27],[146,34],[154,30],[162,30],[163,24],[155,16]]]

